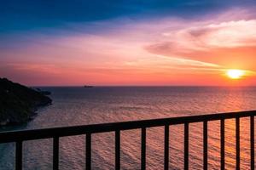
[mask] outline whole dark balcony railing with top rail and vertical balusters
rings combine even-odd
[[[256,111],[242,111],[200,116],[181,116],[131,122],[113,122],[74,127],[55,127],[36,130],[22,130],[0,133],[0,144],[15,142],[15,168],[22,169],[22,142],[33,139],[53,139],[53,169],[59,168],[59,138],[85,134],[86,169],[91,169],[91,134],[115,132],[115,169],[120,169],[120,131],[141,129],[141,169],[146,169],[146,134],[148,127],[165,127],[164,167],[169,168],[169,127],[184,125],[184,169],[189,169],[189,123],[203,122],[203,168],[208,164],[208,122],[220,121],[220,157],[221,169],[225,169],[225,133],[226,119],[236,119],[236,169],[240,169],[240,118],[250,117],[251,169],[254,169],[254,116]]]

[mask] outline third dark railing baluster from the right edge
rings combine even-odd
[[[224,119],[220,120],[220,167],[221,170],[225,169],[225,122]]]

